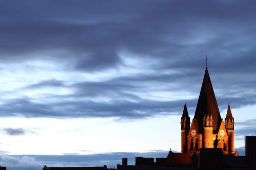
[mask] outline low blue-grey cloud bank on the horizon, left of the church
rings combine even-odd
[[[42,169],[47,166],[103,166],[121,164],[123,157],[128,158],[129,164],[134,164],[134,158],[166,157],[168,151],[147,153],[101,153],[90,155],[1,155],[0,164],[10,170],[16,169]]]

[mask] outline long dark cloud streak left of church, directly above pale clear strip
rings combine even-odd
[[[156,102],[139,100],[137,102],[112,101],[67,101],[53,104],[38,104],[29,99],[11,100],[2,105],[2,116],[25,117],[116,117],[121,119],[137,119],[158,115],[170,115],[180,112],[180,106],[175,102]],[[124,109],[125,108],[125,109]],[[179,114],[179,113],[178,113]]]

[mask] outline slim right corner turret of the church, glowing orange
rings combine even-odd
[[[225,127],[228,135],[228,153],[234,153],[234,118],[231,113],[230,106],[228,104],[227,115],[225,118]]]

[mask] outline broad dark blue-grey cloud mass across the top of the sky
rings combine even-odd
[[[253,54],[252,1],[17,4],[1,7],[4,60],[13,60],[13,53],[64,49],[59,57],[51,57],[72,60],[69,66],[73,68],[102,70],[120,64],[118,52],[128,51],[153,61],[164,60],[159,67],[195,68],[200,65],[199,56],[205,54],[215,56],[212,65],[225,66],[230,57],[236,60]]]

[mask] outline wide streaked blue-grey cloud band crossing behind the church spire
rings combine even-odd
[[[203,72],[201,76],[195,77],[191,72],[184,71],[159,76],[157,74],[123,76],[105,81],[82,81],[73,84],[65,84],[65,81],[60,80],[45,80],[20,90],[49,87],[53,89],[52,91],[58,91],[61,87],[70,91],[70,94],[46,93],[45,97],[40,96],[41,100],[28,97],[5,100],[1,105],[0,114],[25,117],[116,117],[118,119],[180,115],[185,102],[189,111],[195,109],[202,77]],[[216,82],[216,78],[214,80]],[[251,83],[254,81],[252,80]],[[220,82],[217,81],[217,86],[219,84]],[[232,85],[233,88],[226,91],[225,82],[223,84],[224,87],[217,88],[220,92],[215,92],[220,110],[226,110],[228,103],[232,108],[256,103],[254,93],[241,90],[241,84]],[[215,87],[215,84],[213,85]],[[247,86],[247,90],[253,87]],[[170,92],[169,96],[164,94],[168,92]],[[193,97],[187,99],[183,93],[190,93]],[[193,114],[189,112],[189,115]]]

